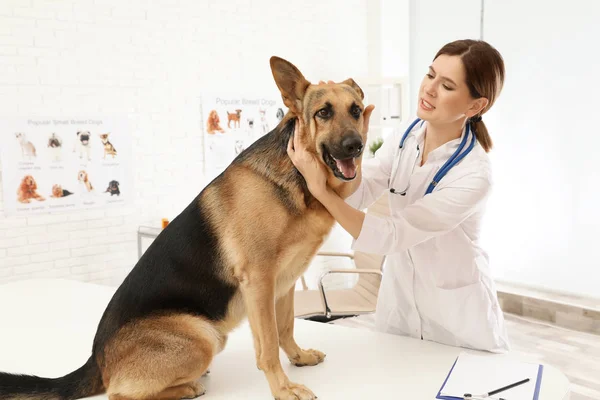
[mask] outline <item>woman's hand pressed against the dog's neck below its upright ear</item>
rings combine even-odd
[[[303,134],[304,124],[298,118],[294,133],[288,142],[287,153],[294,166],[304,177],[308,190],[319,199],[327,192],[327,169],[314,154],[306,150],[306,146],[300,140]]]

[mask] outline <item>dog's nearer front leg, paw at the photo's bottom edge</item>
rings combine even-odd
[[[283,372],[273,301],[275,282],[260,271],[261,268],[249,268],[240,286],[254,336],[257,367],[264,372],[276,400],[314,400],[316,396],[310,389],[290,382]]]

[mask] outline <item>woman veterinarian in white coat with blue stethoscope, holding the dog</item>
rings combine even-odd
[[[345,201],[326,187],[325,165],[298,140],[290,140],[288,154],[311,193],[354,237],[352,248],[387,255],[378,330],[505,352],[505,322],[479,245],[492,185],[492,141],[482,116],[500,94],[504,62],[486,42],[459,40],[440,49],[424,72],[418,119],[364,160],[360,186]],[[301,129],[297,124],[294,138]],[[360,211],[386,191],[390,217]]]

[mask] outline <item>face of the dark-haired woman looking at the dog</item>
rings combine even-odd
[[[462,60],[448,55],[433,61],[421,83],[418,100],[417,116],[437,124],[470,118],[487,104],[485,98],[471,97]]]

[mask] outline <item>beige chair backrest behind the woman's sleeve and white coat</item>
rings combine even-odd
[[[377,201],[371,204],[367,208],[368,214],[377,216],[389,216],[390,208],[388,203],[389,193],[386,190],[385,193],[377,199]],[[360,251],[354,252],[354,264],[356,269],[378,269],[381,271],[385,256],[378,254],[363,253]],[[374,274],[361,274],[360,278],[355,286],[355,290],[361,292],[365,297],[377,299],[379,293],[379,285],[381,284],[381,278]]]

